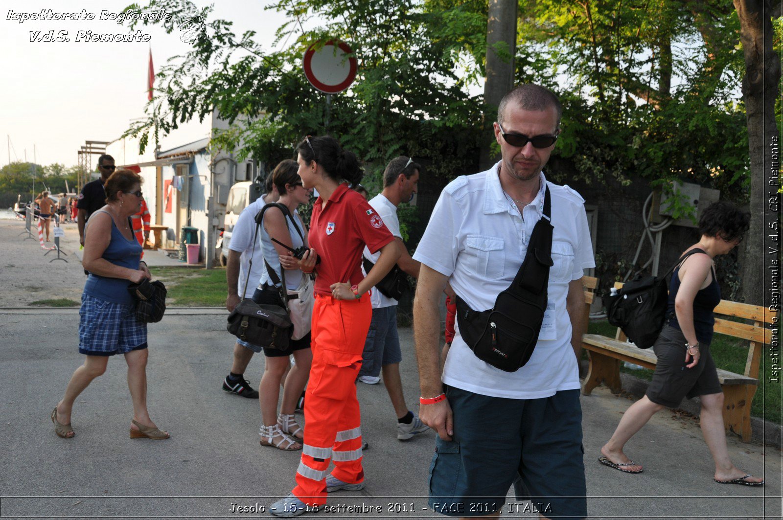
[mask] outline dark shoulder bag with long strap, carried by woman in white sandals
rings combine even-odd
[[[247,268],[247,276],[245,276],[245,283],[242,288],[242,300],[236,304],[234,310],[229,314],[226,329],[237,338],[247,341],[251,345],[277,348],[285,351],[288,349],[292,329],[288,309],[276,304],[258,304],[251,298],[244,297],[253,267],[253,253],[260,227],[261,224],[256,222],[250,265]]]

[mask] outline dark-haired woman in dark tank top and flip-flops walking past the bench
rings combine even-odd
[[[736,468],[729,459],[723,427],[723,389],[709,355],[715,323],[713,309],[720,303],[713,258],[736,247],[749,222],[748,213],[726,201],[711,204],[704,211],[698,224],[701,239],[683,252],[696,254],[681,263],[669,283],[669,323],[653,346],[658,356],[655,374],[647,393],[623,414],[612,439],[601,448],[601,464],[625,473],[641,473],[641,464],[622,451],[626,442],[659,410],[677,407],[684,397],[698,395],[702,403],[702,435],[715,462],[713,480],[721,484],[763,485],[762,478]]]

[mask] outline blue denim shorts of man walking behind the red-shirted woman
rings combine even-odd
[[[360,376],[378,377],[385,365],[402,361],[397,333],[397,305],[373,309],[370,330],[364,341]]]

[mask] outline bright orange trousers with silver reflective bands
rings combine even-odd
[[[364,481],[362,423],[356,377],[373,317],[370,294],[335,300],[316,294],[312,306],[312,367],[305,393],[305,440],[294,495],[311,506],[327,503],[327,470],[343,482]]]

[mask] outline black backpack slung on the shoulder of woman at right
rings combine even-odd
[[[606,305],[606,317],[609,323],[620,327],[633,345],[650,348],[655,345],[666,321],[666,308],[669,305],[669,283],[666,278],[685,258],[701,249],[691,249],[677,260],[663,276],[641,276],[638,274],[615,293],[609,296]]]

